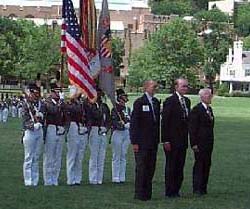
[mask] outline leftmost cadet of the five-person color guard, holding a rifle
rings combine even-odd
[[[30,84],[22,109],[25,186],[37,186],[39,180],[39,157],[43,143],[42,119],[44,112],[39,97],[39,88],[35,84]]]

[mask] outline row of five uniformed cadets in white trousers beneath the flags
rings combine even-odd
[[[125,105],[128,101],[125,92],[117,90],[117,103],[111,111],[103,101],[101,89],[97,89],[95,103],[82,98],[74,88],[70,90],[69,102],[60,99],[59,93],[56,84],[52,84],[45,100],[40,99],[40,90],[35,84],[30,84],[25,93],[22,108],[24,184],[38,185],[39,157],[43,152],[44,185],[58,185],[64,140],[67,142],[67,184],[81,184],[82,161],[88,145],[89,183],[102,184],[109,130],[113,151],[112,182],[125,182],[126,153],[130,144],[130,109]]]

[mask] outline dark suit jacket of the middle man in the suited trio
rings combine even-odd
[[[184,97],[185,103],[190,112],[191,102]],[[163,103],[162,142],[170,142],[173,149],[188,147],[188,118],[185,117],[183,108],[176,93],[168,97]]]

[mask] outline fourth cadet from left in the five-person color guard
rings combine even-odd
[[[103,103],[104,93],[97,89],[97,101],[89,104],[88,125],[90,126],[89,147],[89,183],[102,184],[103,169],[107,147],[107,132],[110,128],[110,110]]]

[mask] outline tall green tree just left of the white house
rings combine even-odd
[[[195,14],[196,30],[202,36],[204,47],[203,73],[210,88],[225,61],[228,47],[232,43],[234,30],[230,18],[217,8]]]

